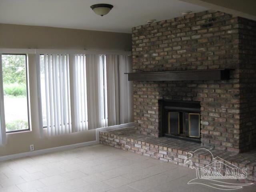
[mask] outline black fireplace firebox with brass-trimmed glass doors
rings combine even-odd
[[[200,143],[200,102],[159,100],[162,136]]]

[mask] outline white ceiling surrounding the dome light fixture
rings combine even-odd
[[[90,8],[97,3],[114,8],[101,17]],[[0,0],[0,23],[130,33],[148,19],[170,19],[184,10],[207,8],[179,0]]]

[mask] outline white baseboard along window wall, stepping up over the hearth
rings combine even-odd
[[[99,132],[100,131],[112,130],[112,129],[122,128],[122,127],[133,126],[133,125],[134,125],[134,122],[121,124],[121,125],[114,125],[114,126],[109,126],[109,127],[98,128],[98,129],[95,130],[96,140],[94,140],[94,141],[88,141],[88,142],[76,143],[76,144],[72,144],[72,145],[53,147],[53,148],[48,148],[48,149],[41,149],[41,150],[36,150],[36,151],[29,151],[29,152],[18,153],[18,154],[13,154],[13,155],[6,155],[6,156],[0,157],[0,162],[1,161],[6,161],[6,160],[11,160],[11,159],[22,158],[22,157],[40,155],[40,154],[44,154],[44,153],[70,150],[70,149],[74,149],[74,148],[78,148],[78,147],[96,145],[96,144],[100,143],[100,138],[99,138]]]

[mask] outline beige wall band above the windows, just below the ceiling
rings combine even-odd
[[[132,50],[127,33],[0,24],[0,48]]]

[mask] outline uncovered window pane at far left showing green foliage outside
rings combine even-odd
[[[28,130],[26,55],[2,55],[6,132]]]

